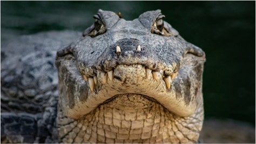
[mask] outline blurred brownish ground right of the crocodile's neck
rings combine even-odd
[[[255,143],[255,126],[235,120],[206,119],[201,137],[204,143]]]

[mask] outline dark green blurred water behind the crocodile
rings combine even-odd
[[[206,118],[255,124],[255,1],[1,1],[1,41],[50,30],[83,31],[98,9],[126,20],[161,9],[165,20],[206,53]]]

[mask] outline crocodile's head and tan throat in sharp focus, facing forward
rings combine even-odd
[[[58,111],[80,124],[80,142],[197,141],[204,117],[205,53],[186,42],[164,17],[156,10],[127,21],[99,10],[83,37],[57,52]],[[104,133],[98,129],[93,138],[93,126]],[[113,132],[114,127],[119,130]],[[133,131],[139,128],[136,139]],[[120,136],[124,129],[127,134]],[[72,137],[60,133],[62,142]]]

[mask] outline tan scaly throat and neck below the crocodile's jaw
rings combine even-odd
[[[59,142],[196,142],[203,123],[203,113],[203,107],[199,106],[192,116],[182,118],[140,94],[122,94],[79,120],[66,118],[59,112]]]

